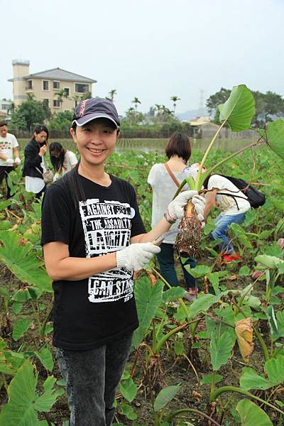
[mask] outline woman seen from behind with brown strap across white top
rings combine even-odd
[[[191,155],[190,139],[187,135],[180,132],[173,133],[165,146],[165,155],[168,157],[167,163],[154,164],[148,175],[148,183],[153,189],[152,226],[155,226],[160,220],[182,180],[192,175],[190,168],[187,167],[187,161]],[[180,220],[175,222],[172,229],[178,228],[179,223]],[[172,287],[179,285],[175,271],[175,238],[175,236],[165,238],[160,245],[160,253],[157,255],[160,272]],[[180,259],[180,264],[187,287],[185,299],[194,300],[198,292],[196,281],[185,269],[185,266],[190,265],[190,268],[195,268],[196,261],[190,257],[185,263],[182,263]]]

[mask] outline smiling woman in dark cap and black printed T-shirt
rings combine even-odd
[[[119,136],[114,104],[81,102],[70,133],[80,163],[43,200],[41,244],[55,290],[53,344],[67,383],[70,425],[109,426],[138,327],[133,271],[160,251],[151,241],[168,231],[197,192],[182,192],[168,207],[170,221],[166,215],[146,234],[133,187],[104,170]],[[192,202],[202,213],[198,197]]]

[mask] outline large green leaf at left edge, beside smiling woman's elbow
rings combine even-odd
[[[21,234],[0,231],[0,261],[23,283],[52,292],[51,280],[43,270],[43,262],[32,251],[32,244],[21,245]]]

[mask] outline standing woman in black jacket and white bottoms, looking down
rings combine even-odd
[[[33,138],[25,148],[25,160],[23,163],[23,176],[26,180],[26,191],[33,192],[39,199],[46,190],[43,180],[45,172],[44,155],[48,143],[48,129],[40,125],[35,126]]]

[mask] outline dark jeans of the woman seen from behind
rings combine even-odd
[[[173,244],[162,243],[160,245],[160,253],[157,254],[157,259],[160,266],[160,273],[163,275],[163,278],[165,278],[172,287],[178,287],[179,283],[177,273],[175,272],[174,253],[175,250],[173,248]],[[183,275],[185,276],[187,290],[189,288],[195,288],[195,278],[193,278],[185,269],[185,265],[190,265],[190,268],[195,268],[195,259],[190,257],[184,264],[182,264],[182,261],[180,260],[180,264],[182,266]]]

